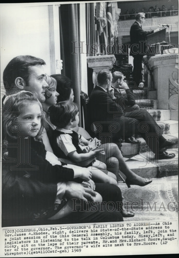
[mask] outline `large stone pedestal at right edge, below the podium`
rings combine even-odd
[[[157,90],[159,109],[178,109],[178,54],[156,55],[149,59]]]

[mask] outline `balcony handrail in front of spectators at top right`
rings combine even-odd
[[[152,18],[152,17],[165,17],[164,15],[162,15],[162,13],[167,12],[166,16],[176,16],[178,15],[178,10],[167,10],[167,11],[159,11],[158,13],[160,13],[160,16],[155,15],[157,12],[147,12],[145,13],[145,18]],[[175,12],[175,13],[174,13]],[[149,13],[151,13],[151,17],[148,17]],[[170,13],[170,14],[169,14]],[[169,15],[168,15],[169,14]],[[127,15],[129,16],[129,18],[126,18]],[[137,15],[137,13],[130,13],[130,14],[121,14],[119,17],[119,20],[133,20],[135,19],[135,16]],[[147,16],[147,17],[146,17]],[[121,19],[123,18],[124,19]]]

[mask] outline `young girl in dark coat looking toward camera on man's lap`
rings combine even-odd
[[[88,182],[91,179],[91,172],[86,168],[75,169],[73,165],[62,166],[58,160],[54,161],[58,165],[53,166],[46,160],[46,150],[41,142],[42,106],[33,93],[21,91],[7,96],[3,103],[11,107],[10,111],[3,113],[5,143],[3,159],[5,161],[14,159],[18,163],[11,167],[12,173],[49,183],[75,181],[75,179],[78,182],[83,180]],[[96,193],[94,200],[102,200],[99,193]],[[34,221],[54,220],[70,214],[72,209],[72,200],[67,200],[63,196],[61,199],[56,199],[54,205],[46,210],[29,212]]]

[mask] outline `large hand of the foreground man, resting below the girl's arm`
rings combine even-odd
[[[93,196],[96,196],[96,193],[91,189],[88,184],[66,182],[65,195],[69,199],[77,198],[83,199],[84,201],[94,201]]]

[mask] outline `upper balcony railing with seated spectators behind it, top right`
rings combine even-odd
[[[123,14],[120,15],[119,20],[133,20],[135,19],[137,13],[133,14]],[[145,18],[153,18],[153,17],[166,17],[166,16],[176,16],[178,15],[178,10],[173,11],[159,11],[159,12],[148,12],[145,13]]]

